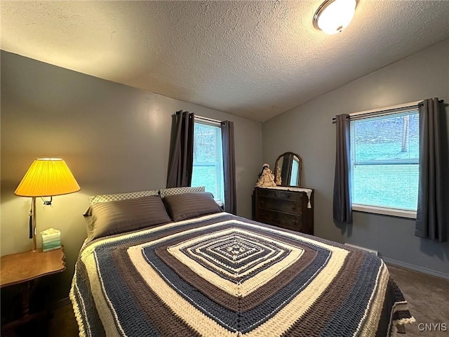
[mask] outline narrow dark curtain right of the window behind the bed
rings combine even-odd
[[[237,213],[236,159],[234,152],[234,122],[222,121],[223,175],[225,176],[225,212]]]

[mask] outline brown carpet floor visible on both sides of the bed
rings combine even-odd
[[[403,337],[449,336],[449,281],[439,277],[388,265],[391,277],[403,291],[416,319],[408,324]],[[53,312],[49,327],[50,337],[76,337],[78,326],[71,305]]]

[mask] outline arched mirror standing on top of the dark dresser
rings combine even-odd
[[[301,157],[294,152],[285,152],[274,164],[274,182],[278,186],[301,187]]]

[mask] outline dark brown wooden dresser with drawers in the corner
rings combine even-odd
[[[309,190],[309,202],[307,192],[302,190],[255,187],[254,220],[313,235],[314,191]]]

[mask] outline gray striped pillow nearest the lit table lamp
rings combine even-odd
[[[171,222],[159,195],[98,202],[84,217],[93,230],[91,239]]]

